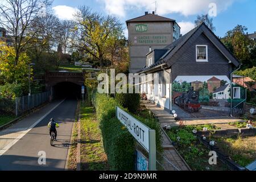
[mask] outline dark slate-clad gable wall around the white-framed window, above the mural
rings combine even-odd
[[[208,46],[208,62],[196,62],[196,45]],[[175,59],[175,60],[173,60]],[[214,46],[203,33],[187,43],[171,57],[172,80],[177,76],[227,76],[232,71],[228,59]],[[196,80],[195,80],[196,81]],[[201,81],[201,80],[199,80]]]

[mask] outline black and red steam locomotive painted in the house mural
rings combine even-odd
[[[175,98],[175,104],[187,110],[189,113],[197,112],[201,109],[199,104],[199,92],[194,91],[193,87],[187,93]]]

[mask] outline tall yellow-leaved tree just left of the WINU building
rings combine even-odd
[[[119,40],[122,31],[122,24],[113,16],[102,16],[93,13],[89,7],[82,6],[75,14],[73,47],[84,51],[94,60],[94,65],[101,68],[106,65],[110,48],[115,40]]]

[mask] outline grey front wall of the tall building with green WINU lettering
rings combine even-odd
[[[135,26],[147,25],[147,31],[138,32]],[[172,22],[130,22],[128,23],[130,73],[135,73],[146,65],[149,47],[162,49],[173,42]]]

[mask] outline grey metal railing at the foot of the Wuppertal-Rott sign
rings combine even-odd
[[[165,156],[156,152],[156,170],[157,171],[180,171],[170,160]]]

